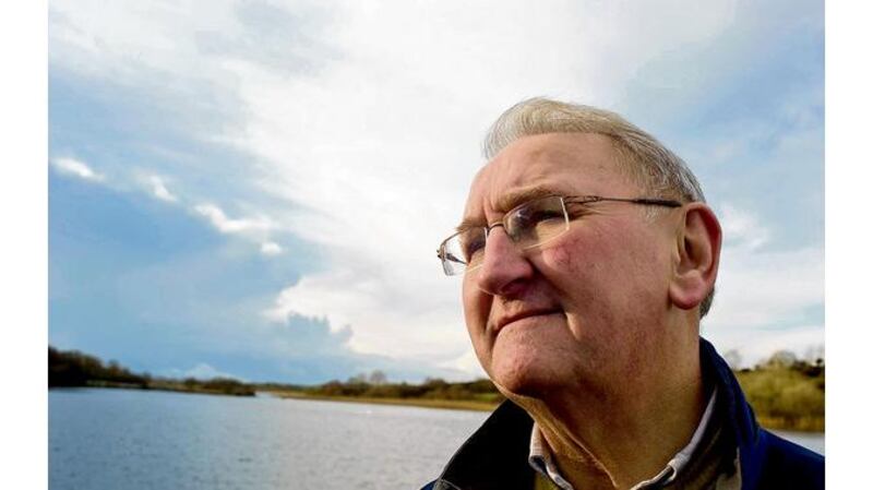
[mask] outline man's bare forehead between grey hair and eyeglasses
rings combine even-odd
[[[488,220],[537,194],[630,196],[631,183],[607,136],[552,133],[507,145],[476,176],[465,222]]]

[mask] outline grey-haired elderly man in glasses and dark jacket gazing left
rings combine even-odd
[[[696,178],[621,117],[504,112],[457,232],[476,355],[507,399],[426,489],[814,489],[699,337],[721,228]]]

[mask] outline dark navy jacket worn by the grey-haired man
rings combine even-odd
[[[821,454],[762,429],[727,362],[701,338],[701,366],[718,389],[717,403],[740,450],[743,490],[814,490],[825,487]],[[455,453],[442,475],[421,490],[529,490],[527,463],[534,421],[518,406],[503,403]]]

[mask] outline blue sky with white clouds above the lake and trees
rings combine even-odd
[[[682,156],[725,231],[702,335],[824,345],[820,1],[48,3],[49,343],[155,375],[481,377],[436,244],[549,96]]]

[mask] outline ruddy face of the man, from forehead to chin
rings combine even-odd
[[[536,188],[564,196],[646,194],[605,136],[526,136],[476,177],[465,220],[498,223]],[[570,384],[597,391],[670,355],[662,319],[674,227],[669,211],[655,218],[644,211],[627,203],[576,208],[569,231],[524,251],[502,228],[492,230],[483,264],[464,277],[464,311],[479,361],[504,393],[537,396]]]

